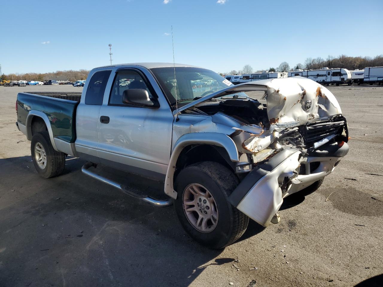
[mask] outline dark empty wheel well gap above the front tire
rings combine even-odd
[[[215,161],[228,167],[232,171],[235,170],[236,166],[236,163],[230,160],[228,152],[223,147],[199,144],[188,145],[183,148],[182,152],[178,156],[177,163],[175,165],[174,179],[183,168],[201,161]]]

